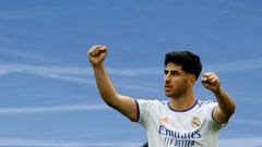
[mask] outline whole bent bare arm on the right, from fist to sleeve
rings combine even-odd
[[[218,76],[215,73],[207,72],[203,74],[201,81],[203,86],[210,89],[217,99],[218,106],[215,107],[213,111],[214,120],[219,124],[228,122],[235,112],[236,105],[230,96],[222,88]]]

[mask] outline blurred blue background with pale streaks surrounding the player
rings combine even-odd
[[[164,56],[191,50],[237,103],[223,147],[261,147],[262,1],[0,0],[0,146],[140,147],[142,126],[104,105],[86,58],[108,46],[118,91],[167,99]],[[203,73],[202,72],[202,73]],[[195,94],[214,99],[198,82]]]

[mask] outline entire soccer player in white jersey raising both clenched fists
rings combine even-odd
[[[148,147],[217,147],[218,132],[235,112],[235,102],[213,72],[201,77],[217,102],[195,98],[193,86],[201,73],[200,58],[190,51],[165,58],[164,89],[168,100],[134,99],[120,95],[104,66],[106,46],[93,46],[88,60],[104,101],[146,131]]]

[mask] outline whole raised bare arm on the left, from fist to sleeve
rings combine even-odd
[[[136,105],[134,99],[117,93],[112,82],[106,73],[104,60],[107,57],[106,46],[93,46],[87,51],[87,58],[94,69],[97,88],[103,100],[132,121],[136,121]]]

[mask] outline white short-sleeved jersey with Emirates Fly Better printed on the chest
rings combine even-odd
[[[212,117],[216,102],[196,100],[189,109],[174,110],[168,101],[135,101],[148,147],[217,147],[221,125]]]

